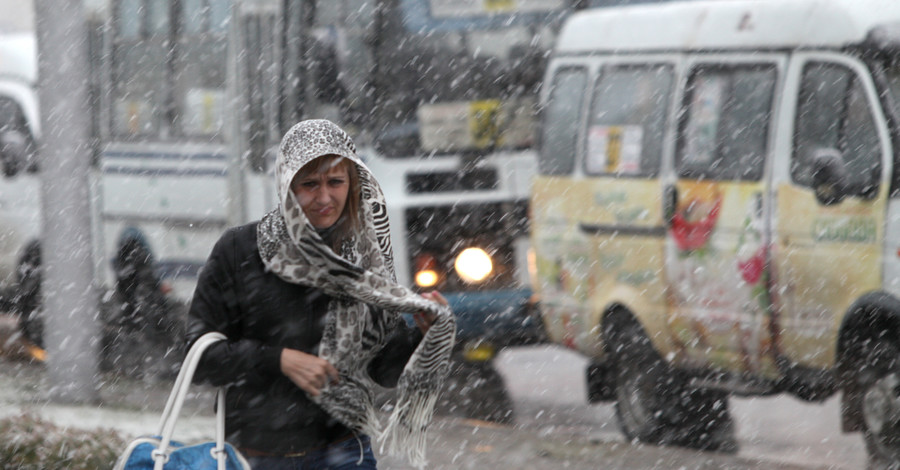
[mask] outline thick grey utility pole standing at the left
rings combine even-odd
[[[98,298],[90,206],[88,35],[81,0],[35,5],[42,138],[41,258],[49,398],[91,403],[97,393]]]

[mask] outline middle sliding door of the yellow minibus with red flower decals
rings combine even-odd
[[[666,196],[669,326],[685,366],[758,372],[768,343],[765,161],[781,56],[688,69]]]

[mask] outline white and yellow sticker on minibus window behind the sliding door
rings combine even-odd
[[[587,172],[640,173],[643,138],[641,126],[592,126],[588,132]]]

